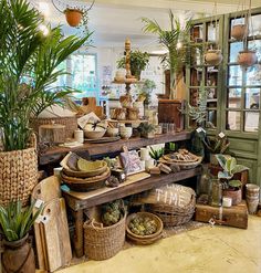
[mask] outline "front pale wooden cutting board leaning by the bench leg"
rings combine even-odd
[[[72,259],[65,201],[53,199],[43,209],[44,238],[46,243],[49,271],[69,264]]]

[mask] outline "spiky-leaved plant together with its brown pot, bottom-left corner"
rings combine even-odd
[[[29,243],[29,231],[41,213],[40,208],[33,216],[34,203],[22,209],[22,202],[0,206],[0,227],[3,233],[2,270],[9,272],[35,273],[33,249]]]

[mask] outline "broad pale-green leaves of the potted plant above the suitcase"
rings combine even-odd
[[[218,178],[230,180],[234,174],[249,169],[243,165],[238,165],[234,157],[225,157],[223,155],[216,155],[216,158],[222,168],[218,172]]]

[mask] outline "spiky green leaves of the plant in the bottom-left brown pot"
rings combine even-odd
[[[10,202],[7,208],[0,206],[0,225],[7,241],[18,241],[27,235],[42,211],[42,207],[33,214],[35,201],[22,208],[22,202]]]

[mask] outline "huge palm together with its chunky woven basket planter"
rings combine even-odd
[[[38,182],[29,120],[72,94],[71,88],[53,87],[64,74],[56,67],[91,34],[64,38],[61,27],[44,27],[43,17],[27,0],[2,0],[0,17],[0,204],[27,204]]]

